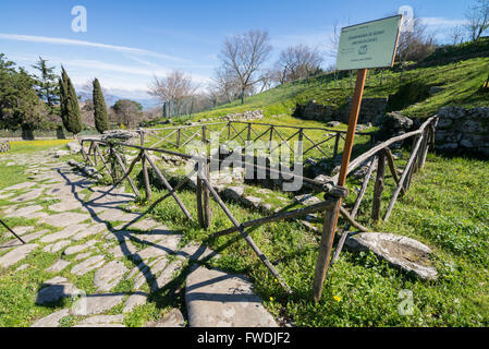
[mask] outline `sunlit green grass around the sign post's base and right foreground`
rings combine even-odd
[[[404,152],[403,158],[407,156]],[[158,205],[151,215],[181,230],[185,241],[209,244],[222,257],[208,266],[249,275],[266,306],[299,326],[487,326],[488,171],[487,161],[430,154],[425,169],[415,176],[409,192],[400,198],[390,220],[372,227],[375,231],[412,237],[431,246],[439,272],[437,281],[415,279],[372,255],[344,252],[330,270],[318,304],[311,300],[311,285],[319,237],[299,224],[274,222],[249,232],[292,287],[294,294],[288,296],[237,233],[209,240],[209,232],[231,226],[217,203],[211,202],[209,232],[188,221],[172,200]],[[359,183],[350,180],[349,188],[354,186]],[[393,179],[388,177],[383,210],[393,190]],[[154,191],[154,200],[163,193]],[[182,191],[180,196],[195,217],[194,192]],[[352,204],[352,196],[346,204]],[[367,226],[371,196],[372,184],[358,214],[358,220]],[[235,203],[228,205],[239,221],[262,216]],[[140,208],[145,207],[147,204]],[[413,315],[399,313],[402,290],[413,292]]]

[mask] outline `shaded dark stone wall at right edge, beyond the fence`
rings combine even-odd
[[[436,148],[489,156],[489,107],[443,107],[436,132]]]

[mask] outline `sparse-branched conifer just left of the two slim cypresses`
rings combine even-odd
[[[54,74],[54,67],[48,67],[47,60],[39,57],[35,65],[32,65],[39,73],[35,75],[36,93],[41,100],[44,100],[51,112],[54,110],[54,105],[60,100],[60,87],[58,85],[58,75]]]

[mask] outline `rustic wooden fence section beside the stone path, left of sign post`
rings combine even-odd
[[[140,132],[140,144],[144,144],[144,132]],[[206,140],[206,129],[203,128],[203,140],[204,142],[207,142]],[[183,212],[183,214],[192,220],[193,217],[190,214],[188,208],[185,206],[183,201],[180,198],[178,191],[183,188],[183,185],[190,181],[191,177],[197,173],[197,185],[196,185],[196,205],[197,205],[197,213],[198,213],[198,222],[199,225],[208,229],[211,222],[211,210],[210,210],[210,197],[212,197],[219,205],[219,207],[224,212],[224,214],[230,219],[231,224],[233,225],[232,228],[223,230],[221,232],[215,233],[212,237],[219,237],[227,233],[232,232],[240,232],[243,239],[248,243],[248,245],[252,248],[252,250],[255,252],[255,254],[259,257],[259,260],[266,265],[266,267],[270,270],[270,273],[279,280],[280,285],[289,292],[291,292],[290,287],[286,285],[284,279],[281,277],[280,273],[276,269],[276,267],[269,262],[267,256],[261,252],[261,250],[256,245],[252,237],[246,232],[246,228],[248,227],[255,227],[272,221],[278,220],[285,220],[291,219],[299,216],[305,216],[311,212],[319,212],[319,210],[328,210],[330,207],[332,207],[335,203],[338,203],[339,197],[345,197],[347,195],[347,191],[344,188],[339,188],[337,185],[323,185],[322,182],[315,181],[313,179],[308,179],[298,174],[295,174],[293,172],[285,172],[288,176],[291,177],[298,177],[303,181],[308,182],[309,184],[316,185],[316,188],[321,188],[326,195],[328,197],[325,198],[323,202],[320,203],[320,205],[315,204],[310,206],[306,206],[304,208],[293,210],[293,212],[280,212],[277,214],[273,214],[271,216],[265,217],[259,220],[252,220],[252,221],[245,221],[240,222],[236,220],[236,218],[233,216],[231,210],[228,208],[225,203],[222,201],[220,195],[216,192],[213,186],[210,183],[210,173],[209,173],[209,164],[211,161],[211,158],[209,156],[191,156],[188,154],[178,153],[174,151],[169,149],[161,149],[161,148],[154,148],[154,147],[145,147],[143,145],[134,145],[134,144],[126,144],[126,143],[120,143],[120,142],[109,142],[109,141],[101,141],[99,139],[82,139],[81,142],[81,153],[84,157],[86,163],[89,163],[91,166],[95,166],[97,163],[97,157],[102,160],[103,166],[101,167],[101,170],[106,170],[111,177],[113,181],[113,185],[118,185],[122,183],[124,180],[126,180],[133,192],[136,196],[142,196],[142,193],[131,179],[131,173],[135,168],[135,165],[137,163],[142,163],[143,166],[143,178],[144,178],[144,185],[145,185],[145,192],[146,192],[146,198],[150,201],[150,183],[147,179],[147,169],[145,170],[145,164],[149,164],[149,166],[155,170],[156,176],[161,180],[163,185],[166,186],[168,193],[163,195],[162,197],[158,198],[155,203],[151,204],[151,207],[155,207],[155,205],[160,204],[163,200],[172,196],[175,202],[178,203],[179,207]],[[86,151],[85,143],[88,143],[88,152]],[[106,148],[106,153],[109,154],[109,156],[113,159],[115,159],[117,164],[122,169],[123,176],[118,177],[117,171],[114,170],[113,166],[111,167],[110,164],[113,164],[113,160],[107,161],[103,152],[100,149],[100,147]],[[121,149],[124,148],[132,148],[132,149],[138,149],[138,155],[132,160],[129,167],[126,167],[122,160]],[[172,188],[167,178],[164,177],[163,172],[158,168],[157,164],[151,159],[151,157],[148,155],[149,152],[155,152],[159,154],[168,154],[173,156],[179,156],[186,160],[193,160],[195,163],[194,170],[186,176],[185,179],[183,179],[180,183],[176,184],[175,188]],[[253,166],[255,169],[266,169],[270,172],[279,172],[284,173],[283,171],[279,171],[269,167],[262,167],[256,164],[247,164],[244,165]],[[126,229],[130,225],[134,224],[136,220],[127,224],[124,229]]]

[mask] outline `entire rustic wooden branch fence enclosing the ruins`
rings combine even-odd
[[[212,184],[210,183],[210,170],[209,166],[211,163],[211,158],[207,155],[207,147],[206,147],[206,156],[191,156],[188,154],[180,153],[176,151],[170,151],[168,148],[158,148],[158,145],[161,145],[163,142],[168,142],[173,144],[176,148],[180,148],[181,146],[190,143],[192,140],[198,137],[204,144],[212,142],[208,137],[209,134],[209,127],[220,125],[220,131],[218,133],[221,134],[222,132],[228,132],[228,141],[235,140],[240,137],[243,142],[253,142],[257,140],[261,140],[261,137],[266,136],[268,134],[267,140],[271,140],[274,134],[279,135],[279,137],[282,140],[282,142],[291,141],[293,137],[297,136],[298,140],[304,140],[305,132],[307,130],[311,130],[313,128],[294,128],[294,127],[281,127],[281,125],[272,125],[272,124],[257,124],[257,123],[250,123],[250,122],[236,122],[236,121],[230,121],[228,123],[211,123],[211,124],[205,124],[205,125],[193,125],[193,127],[179,127],[179,128],[167,128],[167,129],[159,129],[159,130],[138,130],[140,134],[140,144],[129,144],[129,143],[121,143],[121,142],[113,142],[113,141],[102,141],[99,139],[81,139],[80,142],[82,144],[81,153],[85,159],[86,163],[89,163],[91,166],[97,166],[98,160],[100,160],[103,165],[103,169],[111,176],[113,185],[119,185],[124,180],[126,180],[132,190],[134,191],[136,196],[142,196],[140,192],[138,191],[136,184],[131,179],[131,173],[134,170],[137,163],[142,163],[143,168],[143,179],[144,179],[144,186],[145,186],[145,194],[146,198],[148,201],[151,201],[151,189],[149,183],[149,176],[148,176],[148,168],[152,168],[156,176],[161,180],[166,189],[168,190],[168,193],[161,197],[159,197],[156,202],[151,203],[151,207],[156,206],[157,204],[161,203],[162,201],[167,200],[168,197],[172,196],[175,202],[178,203],[179,207],[183,212],[183,214],[190,219],[193,220],[188,208],[185,206],[183,201],[180,198],[178,192],[191,180],[191,177],[194,174],[197,176],[196,179],[196,208],[197,208],[197,220],[200,225],[200,227],[207,229],[210,226],[211,221],[211,209],[210,209],[210,198],[212,197],[218,206],[223,210],[225,216],[229,218],[229,220],[232,224],[231,228],[215,232],[212,237],[221,237],[233,232],[240,232],[242,238],[248,243],[248,245],[252,248],[252,250],[255,252],[255,254],[259,257],[259,260],[265,264],[265,266],[270,270],[270,273],[273,274],[273,276],[279,280],[280,285],[289,292],[291,292],[290,287],[286,285],[284,279],[280,276],[279,272],[276,269],[276,267],[269,262],[267,256],[261,252],[261,250],[258,248],[258,245],[254,242],[252,237],[248,234],[247,229],[250,227],[261,226],[265,224],[269,224],[272,221],[279,221],[279,220],[286,220],[286,219],[294,219],[297,217],[303,217],[313,213],[325,213],[325,224],[323,229],[321,233],[321,244],[329,244],[331,242],[332,244],[332,237],[334,236],[335,231],[333,230],[332,222],[335,219],[337,215],[341,215],[346,221],[347,225],[342,229],[343,232],[346,232],[350,227],[355,227],[356,229],[360,231],[369,231],[367,227],[364,227],[359,222],[355,220],[355,216],[358,212],[358,207],[362,204],[363,198],[365,197],[365,193],[368,186],[368,182],[370,180],[370,177],[375,170],[375,164],[377,163],[377,178],[376,178],[376,184],[375,184],[375,191],[374,191],[374,207],[371,217],[374,220],[380,219],[380,210],[381,210],[381,195],[383,191],[383,182],[384,182],[384,176],[386,176],[386,161],[388,163],[388,168],[390,169],[392,177],[394,181],[398,183],[398,186],[391,197],[391,201],[389,203],[388,209],[383,216],[383,219],[389,219],[390,214],[392,213],[393,206],[399,197],[400,194],[405,193],[412,182],[413,174],[416,173],[425,164],[426,156],[429,151],[429,147],[433,145],[435,142],[435,129],[438,122],[438,117],[432,117],[428,119],[420,128],[419,130],[416,130],[414,132],[409,132],[396,137],[393,137],[389,141],[386,141],[381,144],[378,144],[374,147],[371,147],[368,152],[364,153],[363,155],[355,158],[350,164],[349,167],[349,173],[352,173],[355,169],[357,169],[360,165],[368,163],[368,171],[364,177],[362,190],[359,191],[354,207],[351,213],[346,210],[344,207],[339,207],[338,205],[340,200],[343,200],[349,195],[349,192],[343,186],[338,186],[334,183],[338,182],[338,176],[333,178],[333,181],[330,183],[323,183],[314,179],[309,179],[303,176],[295,174],[293,172],[286,172],[289,178],[299,179],[303,182],[309,184],[309,186],[313,186],[316,192],[323,192],[325,193],[325,200],[320,203],[307,205],[305,207],[294,209],[294,210],[285,210],[285,212],[279,212],[272,215],[269,215],[264,218],[249,220],[240,222],[231,213],[229,207],[225,205],[225,203],[220,197],[219,193],[215,190]],[[240,130],[240,128],[236,129],[236,125],[243,125],[244,129]],[[261,131],[261,133],[258,133],[256,130],[256,125],[260,125],[266,128],[266,131]],[[254,128],[255,127],[255,128]],[[195,130],[197,128],[197,131]],[[289,136],[286,139],[283,136],[280,132],[282,128],[289,128],[294,129],[295,133],[293,133],[292,136]],[[314,129],[317,130],[317,129]],[[344,132],[337,131],[337,130],[329,130],[329,129],[319,129],[321,131],[329,131],[334,133],[332,137],[334,137],[335,144],[339,144],[340,139],[344,136]],[[163,134],[161,133],[163,131]],[[234,131],[234,133],[233,133]],[[155,132],[160,132],[159,136],[161,136],[158,142],[152,144],[151,146],[145,146],[146,140],[145,135],[154,135]],[[167,134],[164,134],[167,132]],[[246,132],[246,139],[244,139],[241,134]],[[255,133],[255,137],[252,136],[252,134]],[[365,135],[370,136],[370,142],[374,142],[374,135],[366,133]],[[173,137],[174,139],[171,139]],[[414,139],[414,146],[411,154],[411,157],[402,171],[401,178],[399,178],[394,159],[390,151],[390,146],[403,142],[407,139]],[[88,143],[88,151],[86,151],[85,143]],[[313,148],[318,148],[321,144],[325,142],[314,142],[310,141],[311,147],[309,147],[307,151],[310,151]],[[338,155],[339,149],[334,146],[334,154]],[[110,166],[108,160],[103,156],[103,152],[100,149],[100,147],[106,148],[106,153],[108,152],[109,156],[114,159],[114,161],[120,166],[122,169],[123,176],[118,177],[113,166]],[[137,156],[126,167],[122,160],[121,154],[119,152],[123,149],[136,149],[138,151]],[[302,151],[302,149],[299,149]],[[304,151],[303,151],[304,152]],[[149,153],[157,153],[157,154],[166,154],[166,155],[172,155],[180,157],[185,160],[192,160],[195,164],[194,169],[188,173],[183,180],[181,180],[174,188],[170,184],[168,179],[164,177],[163,172],[158,168],[157,164],[151,159],[149,156]],[[304,152],[303,154],[305,154]],[[377,161],[376,161],[377,160]],[[221,161],[221,160],[220,160]],[[243,163],[243,165],[246,166],[253,166],[254,169],[260,169],[271,172],[276,172],[279,174],[283,174],[284,171],[277,170],[274,168],[271,168],[269,166],[259,166],[256,164],[247,164]],[[302,165],[302,164],[301,164]],[[134,221],[133,221],[134,222]],[[129,225],[133,224],[130,222]],[[127,225],[127,226],[129,226]],[[343,243],[345,241],[346,233],[342,233],[340,242],[335,249],[335,253],[332,257],[333,263],[335,260],[338,260],[340,252],[342,250]],[[332,246],[329,245],[327,249],[331,249]],[[329,255],[329,254],[328,254]],[[318,264],[328,264],[330,261],[326,261],[325,256],[319,255],[318,257]],[[321,268],[317,268],[321,269]],[[323,280],[325,276],[318,275],[316,273],[315,275],[315,282],[313,285],[313,291],[316,296],[320,294],[322,292],[322,284],[318,282],[318,280]]]

